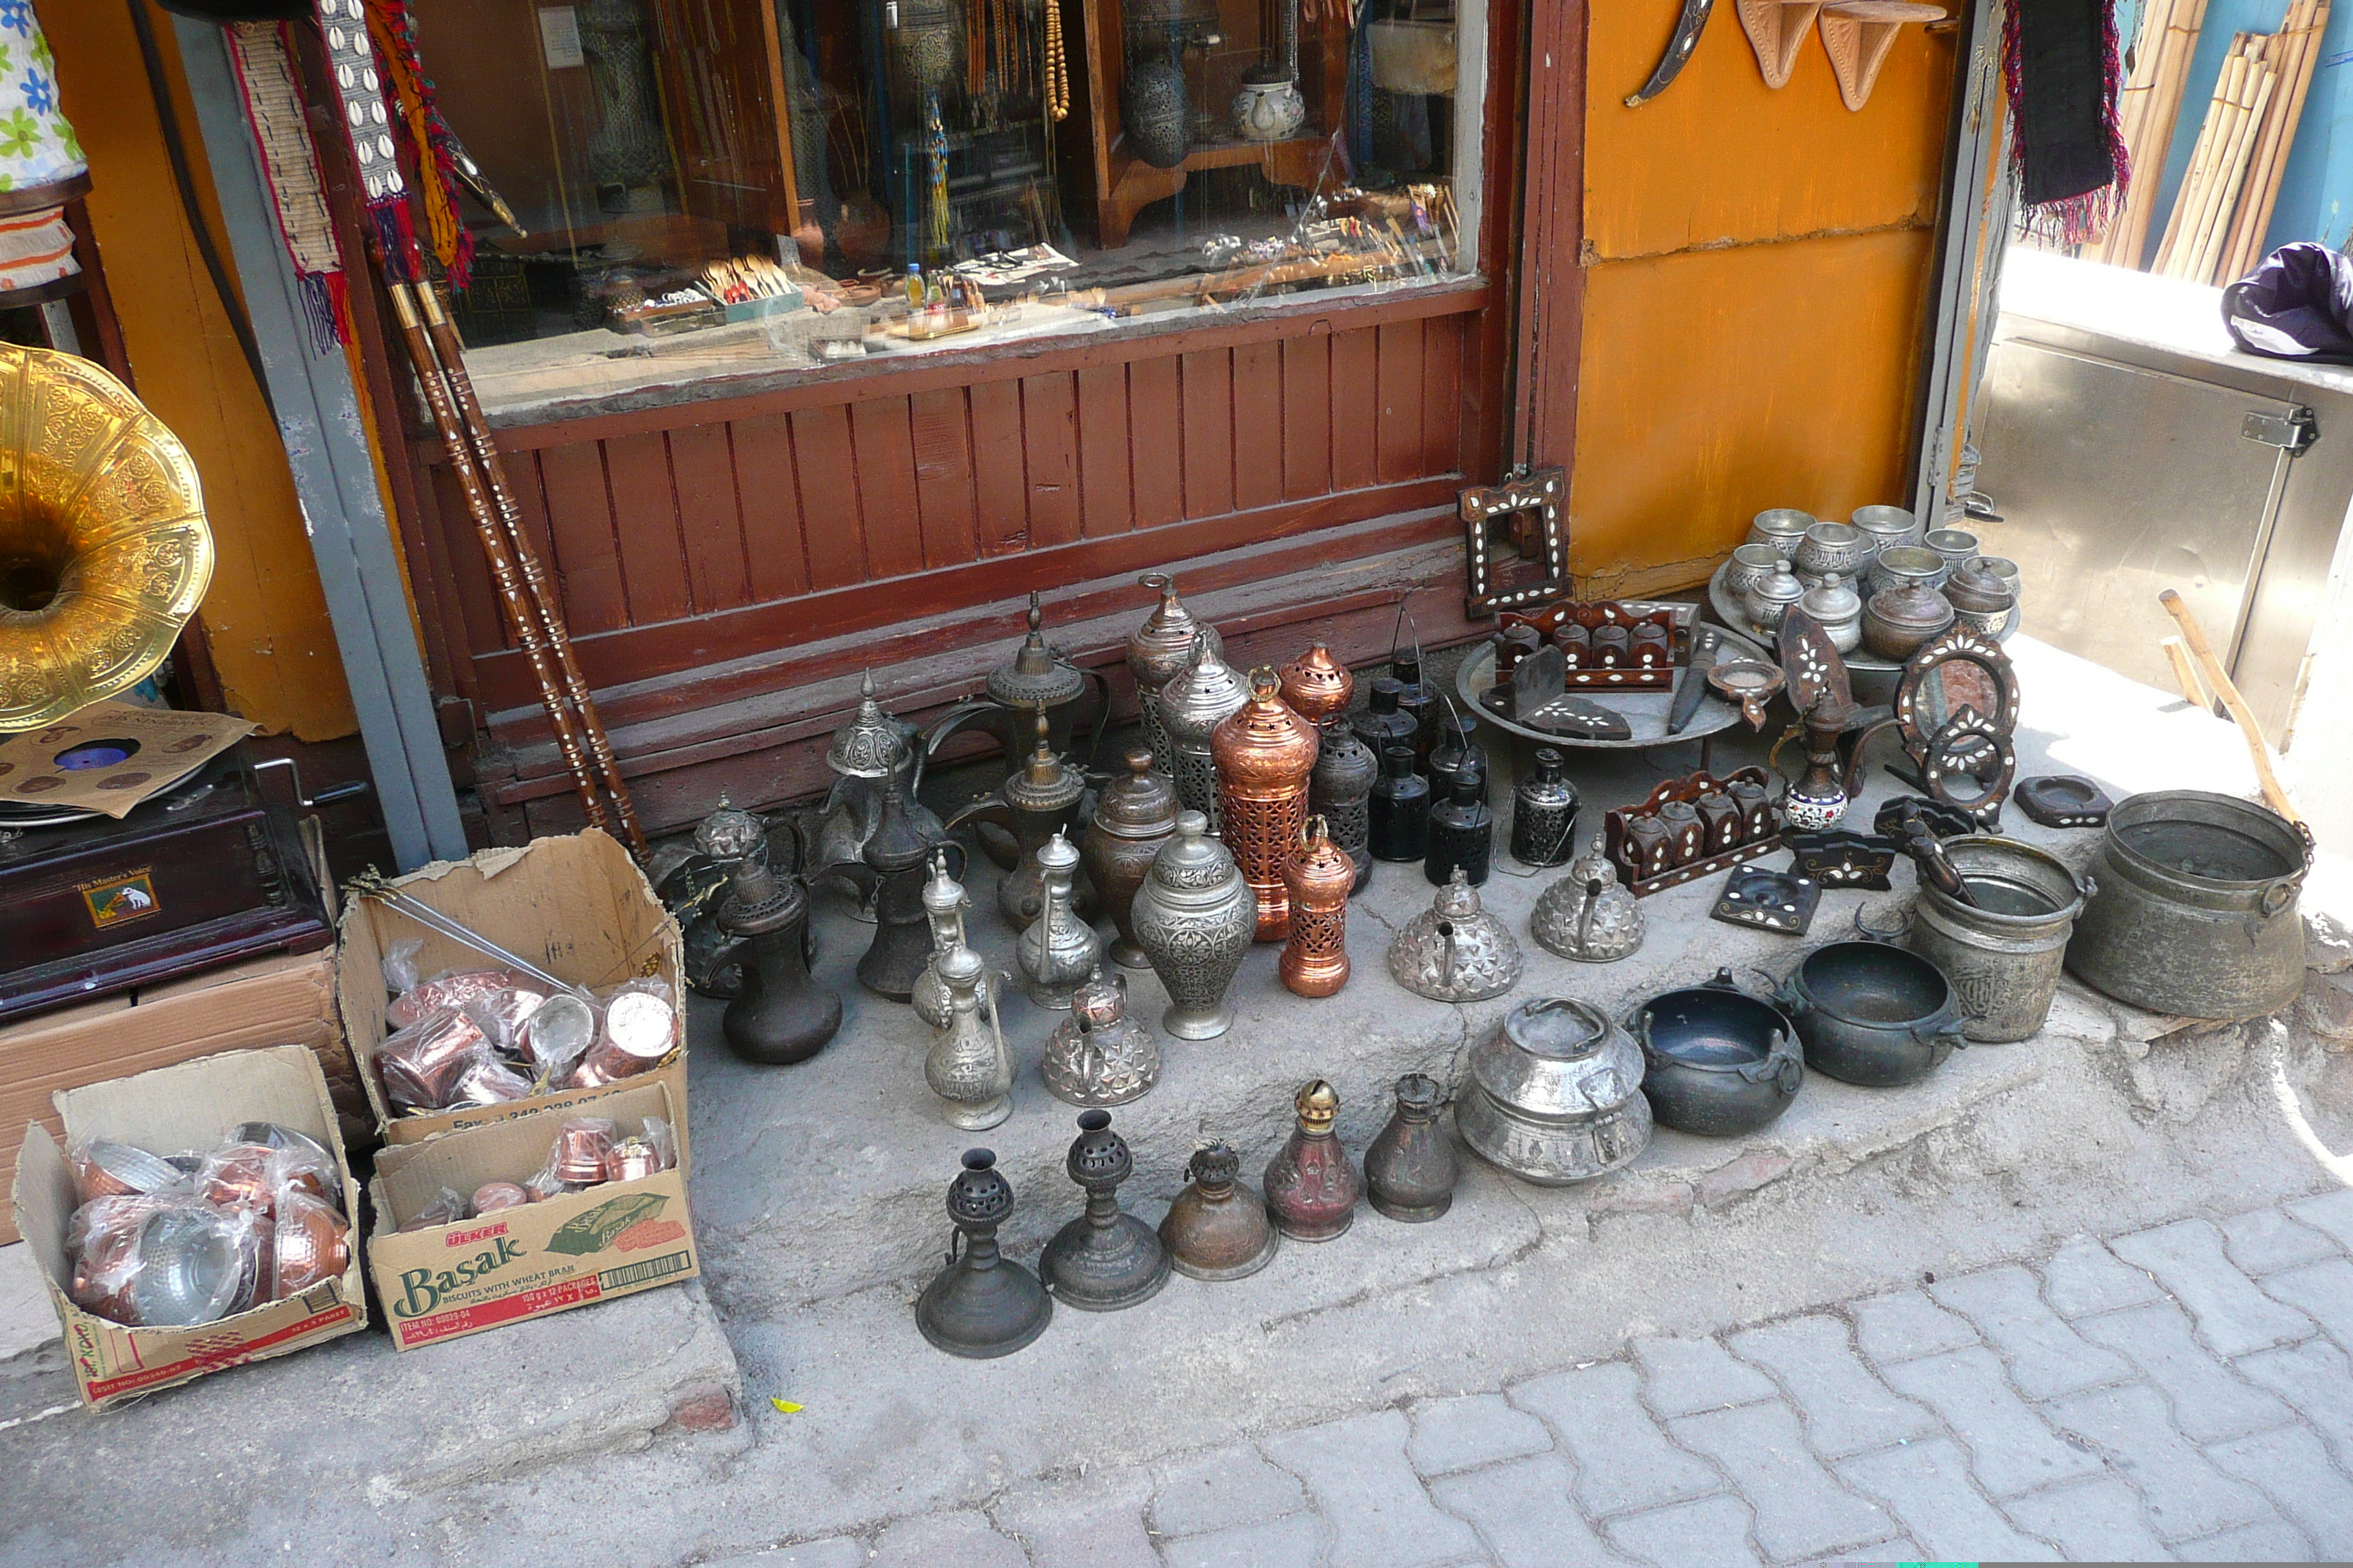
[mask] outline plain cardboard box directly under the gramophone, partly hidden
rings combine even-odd
[[[16,1166],[28,1121],[64,1138],[61,1088],[169,1067],[216,1051],[301,1044],[318,1053],[344,1138],[372,1140],[374,1110],[334,1011],[334,952],[282,952],[205,976],[101,997],[0,1027],[0,1168]],[[332,1126],[332,1124],[329,1124]],[[0,1246],[16,1227],[0,1215]]]

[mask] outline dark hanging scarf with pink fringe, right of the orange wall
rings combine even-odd
[[[2132,176],[2115,125],[2122,71],[2108,0],[2009,0],[2002,82],[2026,223],[2064,244],[2097,240]]]

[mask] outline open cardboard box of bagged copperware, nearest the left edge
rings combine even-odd
[[[113,1138],[158,1154],[209,1150],[240,1121],[278,1121],[334,1150],[344,1213],[360,1213],[360,1190],[351,1180],[344,1140],[334,1131],[327,1079],[306,1044],[224,1051],[111,1084],[66,1088],[56,1095],[56,1112],[68,1147],[85,1138]],[[125,1328],[82,1312],[66,1295],[66,1284],[73,1279],[66,1262],[66,1225],[80,1208],[80,1190],[66,1150],[45,1126],[26,1128],[9,1206],[49,1286],[49,1305],[56,1307],[56,1321],[66,1331],[73,1382],[92,1410],[367,1326],[358,1229],[351,1234],[351,1267],[341,1279],[219,1324]]]

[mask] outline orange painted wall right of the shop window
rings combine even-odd
[[[1718,0],[1626,108],[1678,9],[1588,12],[1569,550],[1595,592],[1701,583],[1769,505],[1901,503],[1913,440],[1953,33],[1904,28],[1849,113],[1819,33],[1774,92]]]

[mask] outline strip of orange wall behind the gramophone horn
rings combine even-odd
[[[172,19],[153,16],[195,188],[226,256]],[[285,447],[181,219],[129,14],[120,0],[52,0],[40,21],[56,52],[66,118],[89,155],[89,221],[139,397],[188,444],[205,484],[219,564],[202,616],[228,705],[304,741],[348,736],[358,729],[351,689]]]

